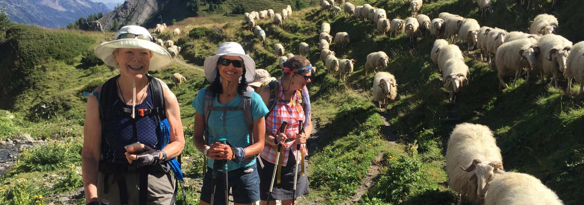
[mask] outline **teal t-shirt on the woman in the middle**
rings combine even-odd
[[[194,98],[193,108],[196,109],[201,115],[204,115],[204,102],[205,102],[205,89],[199,90],[197,96]],[[263,103],[262,97],[258,93],[252,93],[252,116],[253,121],[259,118],[263,118],[267,114],[267,107]],[[213,98],[213,107],[239,107],[241,106],[241,96],[237,94],[231,101],[227,102],[227,105],[219,103],[217,97]],[[244,112],[239,111],[227,111],[226,116],[222,116],[223,111],[211,111],[209,114],[209,119],[207,120],[207,125],[209,126],[209,144],[213,144],[217,139],[225,138],[234,147],[247,147],[249,146],[250,137],[248,134],[248,128],[245,126]],[[225,121],[225,135],[223,135],[223,120]],[[263,136],[263,135],[262,135]],[[213,159],[207,160],[207,166],[213,168]],[[253,165],[256,160],[249,162],[248,164],[235,164],[233,161],[227,161],[228,171],[238,169],[241,167],[248,167]]]

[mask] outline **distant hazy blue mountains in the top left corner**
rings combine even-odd
[[[57,28],[65,27],[79,17],[90,13],[108,13],[103,3],[90,0],[0,0],[0,8],[6,9],[16,23]]]

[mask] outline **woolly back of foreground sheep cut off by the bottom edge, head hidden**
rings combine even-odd
[[[529,174],[507,172],[495,175],[489,183],[485,205],[564,205],[540,179]]]

